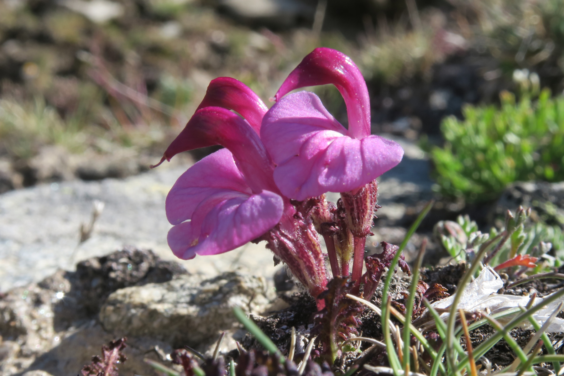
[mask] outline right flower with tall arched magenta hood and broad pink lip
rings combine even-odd
[[[349,129],[304,86],[332,83],[345,99]],[[284,81],[277,103],[262,121],[261,139],[276,163],[274,180],[290,198],[305,200],[325,192],[355,193],[396,166],[398,143],[370,134],[370,101],[360,70],[350,57],[316,48]]]

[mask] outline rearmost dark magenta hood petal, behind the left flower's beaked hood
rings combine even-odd
[[[224,107],[239,113],[257,132],[261,131],[262,117],[268,108],[243,82],[231,77],[213,79],[206,95],[197,109],[204,107]]]

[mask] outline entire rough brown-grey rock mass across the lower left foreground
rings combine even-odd
[[[103,344],[127,334],[120,374],[156,375],[143,359],[167,363],[173,344],[205,352],[221,330],[232,329],[226,345],[233,344],[232,307],[262,312],[272,294],[263,277],[205,280],[178,268],[129,249],[8,291],[0,299],[0,374],[77,374]]]

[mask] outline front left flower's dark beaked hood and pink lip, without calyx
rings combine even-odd
[[[195,163],[170,190],[166,216],[174,224],[168,236],[173,253],[181,259],[224,253],[274,227],[284,201],[274,182],[265,179],[272,174],[270,158],[249,124],[230,110],[206,107],[184,130],[197,135],[184,140],[184,147],[210,138],[231,151],[221,149]]]

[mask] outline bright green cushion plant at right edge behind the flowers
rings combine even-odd
[[[501,107],[467,105],[464,120],[446,118],[443,147],[431,148],[437,190],[469,202],[499,197],[513,182],[564,180],[564,97],[535,101],[501,94]]]

